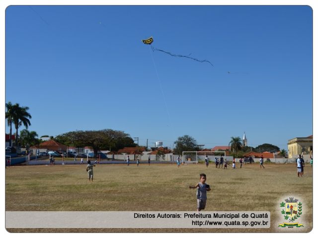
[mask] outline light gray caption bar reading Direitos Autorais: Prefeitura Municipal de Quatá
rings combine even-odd
[[[7,211],[5,228],[270,228],[270,212]]]

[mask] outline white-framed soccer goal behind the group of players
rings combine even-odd
[[[205,156],[208,156],[210,161],[215,158],[220,160],[221,157],[226,159],[226,151],[182,151],[182,164],[198,164],[200,160],[205,160]]]

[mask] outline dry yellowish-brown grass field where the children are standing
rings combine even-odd
[[[15,166],[5,171],[6,211],[195,211],[196,190],[207,175],[205,211],[270,211],[270,229],[9,229],[9,232],[280,232],[279,203],[292,195],[302,200],[302,232],[313,226],[313,170],[297,177],[294,164],[265,163],[242,169],[216,169],[214,164],[97,165],[94,181],[86,165]],[[284,231],[287,231],[284,230]],[[293,231],[296,232],[295,229]]]

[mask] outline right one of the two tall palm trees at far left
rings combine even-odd
[[[20,107],[18,103],[12,106],[12,122],[15,127],[15,146],[18,145],[18,128],[23,124],[27,129],[31,122],[31,115],[27,112],[28,107]]]

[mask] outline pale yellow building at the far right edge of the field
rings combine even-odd
[[[302,153],[311,155],[313,153],[313,135],[290,139],[287,145],[289,159],[295,158]]]

